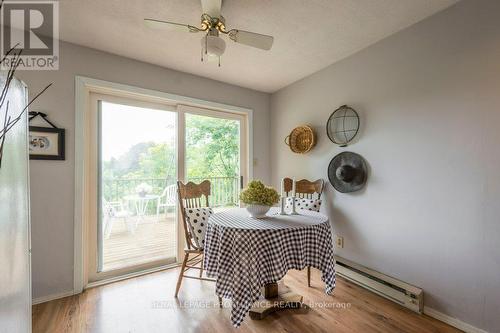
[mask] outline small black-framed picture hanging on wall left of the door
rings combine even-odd
[[[30,126],[30,160],[64,160],[64,129]]]

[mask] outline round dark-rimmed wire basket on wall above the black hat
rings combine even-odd
[[[333,111],[326,123],[328,138],[341,147],[347,146],[359,131],[358,113],[347,105]]]

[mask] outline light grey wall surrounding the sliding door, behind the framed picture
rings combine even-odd
[[[254,177],[269,181],[269,95],[93,49],[62,43],[58,71],[19,71],[33,105],[66,128],[65,161],[31,161],[33,297],[73,289],[75,76],[82,75],[254,110]],[[209,65],[207,65],[209,66]]]

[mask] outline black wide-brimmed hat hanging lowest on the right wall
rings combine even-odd
[[[356,153],[342,152],[328,165],[328,179],[341,193],[358,191],[363,188],[367,178],[366,162]]]

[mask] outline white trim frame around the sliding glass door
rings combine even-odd
[[[86,272],[86,239],[88,237],[88,215],[91,198],[89,197],[90,147],[85,142],[90,133],[90,95],[91,93],[111,94],[168,105],[183,105],[219,111],[226,114],[243,115],[247,119],[246,160],[247,175],[253,177],[253,110],[205,101],[202,99],[144,89],[130,85],[113,83],[83,76],[75,77],[75,216],[74,216],[74,280],[73,292],[80,293],[88,284]],[[181,124],[179,124],[181,125]],[[181,127],[181,126],[178,126]],[[182,156],[179,156],[182,158]],[[179,174],[182,176],[182,174]]]

